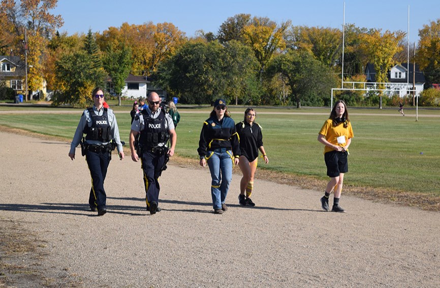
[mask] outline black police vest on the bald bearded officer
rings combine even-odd
[[[160,143],[168,141],[169,135],[165,127],[165,111],[161,110],[155,119],[150,117],[146,110],[141,111],[144,117],[144,129],[140,132],[139,145],[142,149],[158,147]]]

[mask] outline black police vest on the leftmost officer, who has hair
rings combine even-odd
[[[91,126],[86,124],[83,133],[86,134],[86,140],[98,140],[101,142],[109,142],[111,137],[111,126],[108,121],[107,108],[103,108],[104,112],[102,116],[96,115],[93,108],[88,108],[88,114],[91,117]]]

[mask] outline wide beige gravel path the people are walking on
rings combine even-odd
[[[208,168],[170,161],[162,211],[145,210],[139,163],[113,157],[108,213],[88,210],[90,175],[69,143],[0,132],[0,211],[46,242],[41,269],[98,287],[440,286],[440,213],[255,181],[255,208],[212,213]],[[257,172],[258,173],[258,172]],[[350,181],[350,175],[347,175]],[[331,202],[331,201],[330,201]],[[0,227],[1,228],[1,227]],[[0,234],[1,235],[1,234]]]

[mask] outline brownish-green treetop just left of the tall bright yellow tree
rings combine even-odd
[[[250,14],[237,14],[233,17],[229,17],[218,29],[218,41],[222,44],[231,40],[243,43],[243,28],[249,24]]]

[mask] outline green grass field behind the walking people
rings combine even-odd
[[[115,110],[120,136],[125,142],[130,132],[130,109],[122,106]],[[0,114],[0,125],[70,139],[82,112],[77,111],[77,114],[18,115],[10,110],[11,114]],[[242,120],[242,107],[233,107],[231,111],[236,122]],[[180,109],[180,112],[176,153],[196,159],[200,130],[210,109]],[[260,168],[326,179],[324,146],[317,136],[329,112],[329,109],[257,109],[256,121],[263,127],[264,147],[269,156],[269,164],[261,164]],[[417,122],[415,111],[409,109],[405,111],[406,117],[394,116],[396,109],[349,112],[355,137],[350,146],[346,184],[440,196],[438,110],[419,110]],[[428,114],[434,117],[422,117]]]

